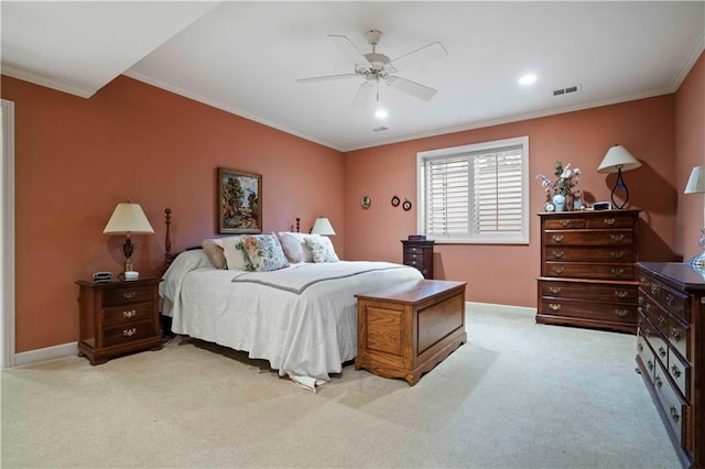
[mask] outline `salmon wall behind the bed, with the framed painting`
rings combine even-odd
[[[263,176],[264,231],[329,217],[344,254],[343,154],[128,77],[84,99],[10,77],[15,102],[15,342],[22,352],[78,340],[78,279],[121,271],[116,205],[141,204],[154,236],[134,236],[135,269],[156,274],[165,207],[175,251],[215,236],[216,168]]]

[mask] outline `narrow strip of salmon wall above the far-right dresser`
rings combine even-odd
[[[705,165],[705,53],[675,94],[675,181],[679,192],[675,247],[685,260],[703,251],[703,194],[684,195],[693,166]]]

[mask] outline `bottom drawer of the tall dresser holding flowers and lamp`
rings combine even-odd
[[[610,323],[637,323],[637,306],[633,304],[543,297],[541,298],[541,312],[547,315],[579,317]]]

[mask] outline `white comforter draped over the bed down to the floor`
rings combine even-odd
[[[280,375],[328,381],[357,355],[354,295],[421,279],[416,269],[389,262],[217,270],[195,250],[176,258],[160,294],[174,332],[246,350]]]

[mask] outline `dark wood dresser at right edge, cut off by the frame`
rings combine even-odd
[[[682,263],[639,263],[637,366],[686,468],[705,468],[704,279]]]

